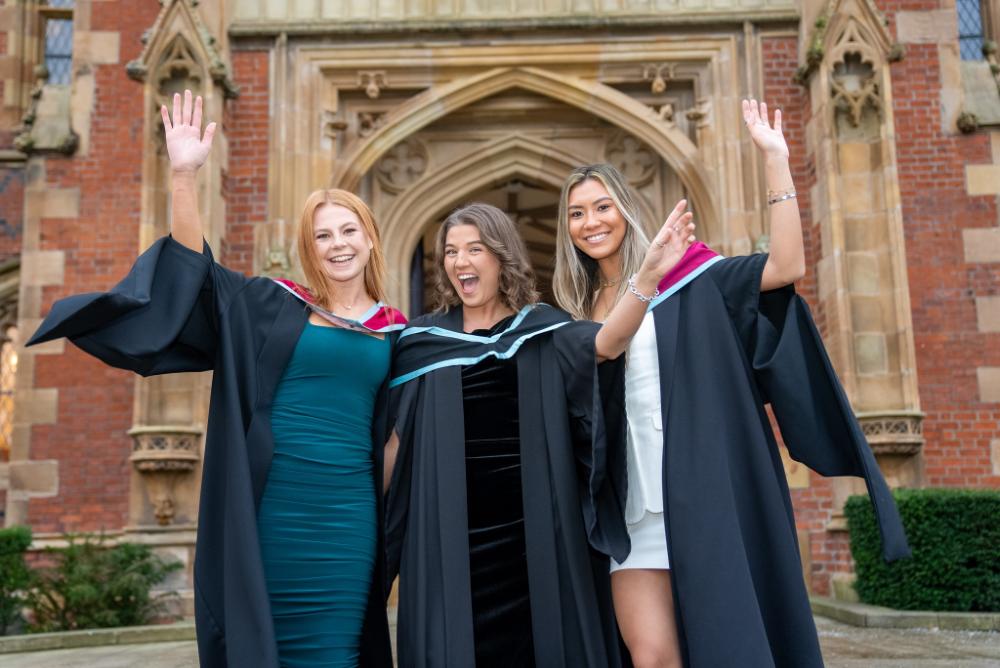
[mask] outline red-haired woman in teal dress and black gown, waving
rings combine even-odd
[[[201,98],[162,109],[171,236],[107,293],[52,306],[29,345],[67,337],[143,376],[214,372],[194,565],[202,666],[392,665],[382,551],[387,376],[405,323],[383,304],[369,208],[306,200],[308,287],[247,278],[202,238]],[[376,471],[379,473],[376,475]]]

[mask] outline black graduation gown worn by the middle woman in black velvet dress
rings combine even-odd
[[[468,360],[487,348],[516,349],[536,664],[607,668],[621,665],[609,562],[588,546],[583,510],[590,498],[592,442],[604,436],[600,411],[594,410],[598,327],[568,320],[538,305],[514,333],[490,345],[418,341],[404,332],[392,375],[449,357]],[[461,308],[410,324],[461,332]],[[520,334],[546,327],[555,328],[512,345]],[[400,445],[386,508],[386,546],[387,574],[399,573],[401,668],[475,665],[461,372],[461,366],[444,366],[393,389]]]

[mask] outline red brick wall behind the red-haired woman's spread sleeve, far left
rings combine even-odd
[[[42,293],[42,312],[69,294],[106,290],[128,271],[139,242],[143,144],[142,86],[125,75],[140,36],[159,10],[152,0],[96,2],[91,30],[119,32],[119,62],[94,66],[95,98],[87,155],[45,158],[45,184],[78,188],[77,218],[43,219],[40,249],[65,252],[61,286]],[[59,461],[58,495],[32,500],[36,532],[119,529],[128,510],[132,374],[111,369],[67,344],[38,355],[35,387],[58,388],[57,422],[32,427],[31,458]]]

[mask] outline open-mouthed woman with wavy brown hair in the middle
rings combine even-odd
[[[644,278],[683,255],[689,219],[674,212]],[[400,335],[390,381],[400,666],[619,666],[608,561],[588,547],[595,362],[644,309],[600,327],[537,303],[524,242],[488,204],[448,216],[435,247],[437,310]]]

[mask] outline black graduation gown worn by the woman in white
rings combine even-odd
[[[793,459],[822,475],[865,479],[885,558],[909,554],[892,496],[808,306],[791,286],[760,293],[766,261],[722,259],[653,310],[664,521],[691,668],[823,665],[765,403]],[[624,421],[608,429],[616,437],[602,455],[608,477],[598,487],[605,503],[624,509]],[[608,517],[612,524],[595,535],[622,561],[629,551],[624,516]]]

